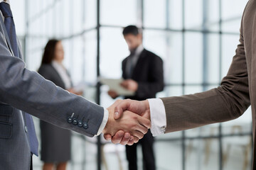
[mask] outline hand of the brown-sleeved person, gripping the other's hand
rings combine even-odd
[[[142,117],[150,120],[150,109],[148,101],[132,101],[132,100],[123,100],[118,101],[114,107],[114,119],[119,119],[122,115],[129,114],[124,113],[124,111],[131,111],[137,113]],[[110,115],[111,116],[111,115]],[[150,128],[150,127],[148,127]],[[124,133],[122,130],[116,133],[116,135],[105,134],[105,140],[112,140],[113,143],[121,143],[122,145],[133,145],[136,143],[138,138],[134,137],[134,140],[128,140],[127,138],[130,134]],[[133,136],[131,136],[133,137]]]

